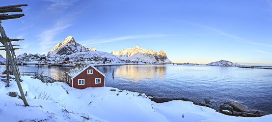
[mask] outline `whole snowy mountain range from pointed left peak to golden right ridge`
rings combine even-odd
[[[94,47],[85,48],[77,43],[73,36],[68,36],[64,41],[56,44],[51,49],[47,57],[49,58],[98,58],[110,59],[111,61],[129,61],[129,62],[146,62],[146,63],[172,63],[168,60],[166,53],[154,50],[145,50],[140,47],[128,48],[126,50],[107,52],[96,51]]]

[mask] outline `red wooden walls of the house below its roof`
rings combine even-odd
[[[87,74],[88,69],[92,69],[93,74]],[[101,83],[95,84],[95,78],[101,78]],[[78,85],[79,84],[78,79],[85,79],[84,85]],[[85,69],[81,74],[76,76],[73,80],[74,80],[73,82],[74,88],[85,89],[88,87],[104,87],[105,77],[90,66],[87,69]],[[69,81],[68,81],[68,84],[69,84]],[[72,79],[71,79],[71,85],[69,86],[72,86]]]

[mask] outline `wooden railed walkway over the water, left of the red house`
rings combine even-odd
[[[40,79],[42,82],[54,83],[54,82],[66,82],[65,79],[54,80],[49,76],[43,76],[38,72],[20,72],[21,76],[30,76],[31,78]]]

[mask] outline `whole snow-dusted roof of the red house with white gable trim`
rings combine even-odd
[[[65,71],[65,73],[71,77],[72,79],[75,78],[76,76],[78,76],[80,73],[82,73],[85,69],[87,69],[88,67],[92,67],[93,69],[95,69],[96,71],[98,71],[100,74],[102,74],[104,77],[106,77],[105,74],[103,74],[101,71],[99,71],[97,68],[95,68],[93,65],[87,65],[87,64],[76,64],[75,66],[73,66],[72,68],[68,69],[67,71]]]

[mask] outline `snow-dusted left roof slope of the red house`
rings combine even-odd
[[[78,73],[82,72],[82,70],[86,69],[89,66],[90,65],[87,65],[87,64],[76,64],[72,68],[65,71],[65,73],[73,78],[73,77],[77,76]]]

